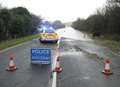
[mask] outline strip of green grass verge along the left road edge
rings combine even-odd
[[[0,42],[0,50],[8,48],[8,47],[12,47],[12,46],[15,46],[15,45],[21,44],[23,42],[30,41],[34,38],[39,38],[39,37],[40,37],[40,35],[36,34],[36,35],[30,35],[30,36],[26,36],[26,37],[17,38],[17,39],[2,41],[2,42]]]

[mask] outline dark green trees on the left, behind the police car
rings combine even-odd
[[[0,41],[33,34],[41,19],[24,8],[0,7]]]

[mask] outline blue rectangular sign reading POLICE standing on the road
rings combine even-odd
[[[51,63],[51,49],[50,48],[32,48],[31,49],[31,63],[50,64]]]

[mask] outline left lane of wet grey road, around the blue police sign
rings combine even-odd
[[[0,53],[0,87],[48,87],[51,66],[32,65],[30,49],[32,47],[56,47],[55,44],[41,44],[38,39],[29,41],[21,46],[5,50]],[[8,72],[9,54],[15,55],[18,68],[15,72]]]

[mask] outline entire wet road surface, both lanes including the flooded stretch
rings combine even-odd
[[[60,63],[63,68],[63,72],[57,75],[57,87],[119,87],[119,55],[72,28],[56,32],[61,37]],[[34,39],[0,52],[0,87],[50,87],[51,66],[32,65],[32,47],[49,47],[54,51],[56,44],[41,44],[38,39]],[[9,53],[15,55],[18,68],[15,72],[5,70]],[[111,60],[113,75],[109,77],[101,73],[105,58]]]

